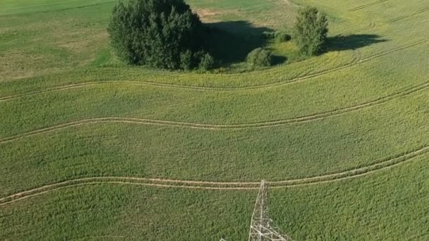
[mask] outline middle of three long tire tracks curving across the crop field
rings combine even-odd
[[[42,128],[39,130],[32,130],[30,132],[25,132],[19,135],[13,135],[11,137],[5,137],[0,140],[0,144],[4,144],[6,142],[12,142],[14,140],[20,140],[25,137],[31,137],[34,135],[42,135],[47,134],[49,132],[55,132],[58,130],[63,130],[66,128],[73,128],[80,125],[90,125],[97,123],[132,123],[132,124],[140,124],[140,125],[162,125],[162,126],[171,126],[171,127],[179,127],[179,128],[193,128],[193,129],[203,129],[203,130],[243,130],[243,129],[252,129],[252,128],[273,128],[282,125],[291,125],[297,123],[306,123],[309,121],[316,121],[324,118],[330,118],[332,116],[338,116],[343,113],[349,113],[352,111],[358,111],[362,109],[368,109],[374,106],[378,106],[380,104],[384,104],[387,101],[392,101],[394,99],[399,99],[401,97],[406,97],[410,94],[414,94],[417,92],[424,91],[425,89],[429,89],[429,82],[425,82],[421,85],[416,85],[414,87],[410,87],[408,89],[403,89],[394,94],[389,94],[385,97],[380,97],[373,101],[368,101],[363,104],[358,104],[356,106],[349,106],[343,109],[335,109],[332,111],[326,111],[322,113],[315,113],[308,116],[300,116],[296,118],[288,118],[278,121],[264,121],[257,123],[243,123],[243,124],[204,124],[204,123],[188,123],[188,122],[179,122],[179,121],[162,121],[156,119],[148,119],[148,118],[129,118],[129,117],[103,117],[103,118],[89,118],[80,121],[72,121],[70,123],[64,123],[60,125],[54,125],[48,128]]]

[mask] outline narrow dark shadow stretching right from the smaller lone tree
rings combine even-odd
[[[356,50],[380,42],[387,42],[380,35],[339,35],[328,37],[325,51]]]

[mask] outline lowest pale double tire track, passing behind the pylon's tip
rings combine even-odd
[[[341,180],[348,180],[351,178],[358,178],[364,175],[370,175],[379,171],[386,170],[398,166],[401,163],[412,161],[418,156],[423,156],[429,153],[429,146],[421,149],[401,154],[399,156],[385,159],[378,163],[374,163],[362,168],[356,168],[349,171],[339,173],[332,173],[327,175],[313,176],[310,178],[299,178],[290,180],[279,181],[266,181],[270,188],[280,189],[286,187],[300,187],[306,185],[318,185],[322,183],[332,183]],[[73,180],[65,180],[59,183],[44,185],[36,187],[23,192],[11,194],[7,197],[0,198],[0,206],[18,202],[23,199],[35,197],[48,192],[62,190],[70,187],[78,187],[83,185],[97,185],[97,184],[116,184],[116,185],[143,185],[149,187],[169,187],[169,188],[183,188],[193,190],[258,190],[260,182],[210,182],[198,180],[169,180],[160,178],[133,178],[133,177],[92,177],[92,178],[77,178]]]

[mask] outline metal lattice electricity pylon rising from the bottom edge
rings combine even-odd
[[[291,241],[287,235],[281,235],[268,216],[267,184],[262,180],[250,222],[249,241]]]

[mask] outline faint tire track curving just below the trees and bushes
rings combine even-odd
[[[314,74],[311,74],[311,75],[306,75],[306,76],[302,76],[302,77],[298,77],[298,78],[294,78],[294,79],[290,79],[290,80],[284,80],[281,82],[273,82],[273,83],[266,84],[266,85],[255,85],[255,86],[249,86],[249,87],[199,87],[199,86],[191,86],[191,85],[174,85],[174,84],[164,84],[164,83],[159,83],[159,82],[146,82],[146,81],[107,80],[107,81],[102,81],[102,82],[84,82],[84,83],[73,84],[73,85],[64,85],[64,86],[42,89],[42,90],[38,90],[35,92],[27,92],[27,93],[23,93],[23,94],[9,95],[6,97],[0,97],[0,102],[13,100],[13,99],[17,99],[20,97],[28,97],[28,96],[32,96],[32,95],[36,95],[36,94],[47,93],[47,92],[61,91],[61,90],[67,90],[67,89],[76,89],[76,88],[80,88],[80,87],[104,85],[104,84],[143,85],[143,86],[152,86],[152,87],[164,87],[164,88],[170,88],[170,89],[188,89],[188,90],[196,90],[196,91],[220,91],[220,92],[235,92],[235,91],[241,91],[241,90],[265,89],[265,88],[270,88],[270,87],[275,87],[275,86],[291,85],[291,84],[296,83],[296,82],[301,82],[304,80],[310,80],[313,78],[318,78],[322,75],[327,75],[329,73],[334,73],[334,72],[337,72],[339,70],[351,68],[351,67],[356,66],[360,63],[372,61],[375,58],[380,58],[382,56],[386,56],[388,54],[392,54],[394,52],[401,51],[404,49],[409,49],[411,47],[416,47],[420,44],[425,44],[428,42],[429,42],[429,39],[421,39],[421,40],[418,40],[416,42],[411,42],[409,44],[406,44],[402,47],[397,47],[397,48],[389,49],[387,51],[382,51],[378,54],[373,54],[372,56],[368,56],[365,58],[358,57],[359,58],[358,61],[353,61],[353,62],[347,63],[343,66],[338,66],[336,68],[331,68],[328,70],[321,70],[321,71],[314,73]]]

